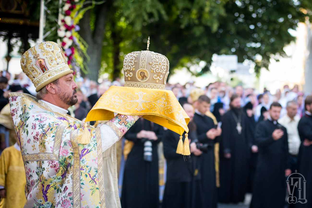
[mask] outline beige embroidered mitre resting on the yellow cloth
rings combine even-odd
[[[166,56],[149,50],[132,52],[124,58],[124,86],[165,89],[169,74]]]

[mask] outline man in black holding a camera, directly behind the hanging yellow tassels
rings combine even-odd
[[[167,181],[163,194],[162,208],[200,208],[200,173],[198,157],[202,152],[196,148],[196,125],[192,121],[194,109],[191,104],[184,104],[183,108],[190,117],[188,123],[188,139],[190,139],[191,156],[185,158],[177,154],[177,146],[180,135],[171,131],[165,131],[163,139],[163,154],[167,161]],[[185,132],[183,133],[183,143]]]

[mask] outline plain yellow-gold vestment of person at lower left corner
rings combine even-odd
[[[0,208],[21,208],[26,203],[26,176],[21,151],[17,144],[3,150],[0,155],[0,186],[6,190]]]

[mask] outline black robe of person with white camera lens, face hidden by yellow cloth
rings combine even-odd
[[[152,162],[144,161],[144,141],[138,139],[141,130],[153,130],[158,140],[152,142]],[[122,208],[159,208],[157,144],[162,140],[163,127],[140,118],[124,137],[134,142],[124,167],[121,193]]]

